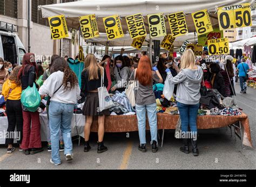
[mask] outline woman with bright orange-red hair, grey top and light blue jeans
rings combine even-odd
[[[135,75],[135,78],[134,78]],[[146,112],[149,119],[152,152],[158,150],[157,143],[157,104],[154,96],[152,82],[163,82],[157,68],[151,70],[151,62],[149,57],[143,55],[138,64],[138,68],[134,69],[131,75],[131,80],[137,81],[135,90],[136,98],[136,113],[139,128],[139,147],[142,152],[146,152]]]

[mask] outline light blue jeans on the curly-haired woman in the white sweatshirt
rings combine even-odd
[[[64,155],[72,154],[71,120],[73,117],[73,104],[51,101],[49,106],[49,124],[51,130],[51,159],[60,163],[59,154],[59,129],[63,134]]]

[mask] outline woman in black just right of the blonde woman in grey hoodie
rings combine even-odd
[[[217,89],[220,92],[220,94],[225,97],[226,85],[225,85],[223,75],[221,75],[220,71],[221,71],[221,68],[219,64],[212,63],[210,65],[210,72],[212,73],[212,77],[211,77],[212,88]]]

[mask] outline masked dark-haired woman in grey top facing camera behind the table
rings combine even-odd
[[[127,82],[130,77],[130,68],[129,64],[126,64],[122,55],[118,55],[114,58],[114,76],[117,83],[111,88],[111,91],[123,92],[127,86]]]

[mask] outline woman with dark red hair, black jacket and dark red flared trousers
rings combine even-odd
[[[22,68],[19,70],[18,79],[21,80],[22,90],[33,87],[36,84],[37,67],[35,54],[26,53],[23,56]],[[38,88],[38,85],[36,84]],[[23,139],[21,148],[25,150],[25,155],[36,154],[43,151],[40,135],[39,113],[30,112],[23,108]]]

